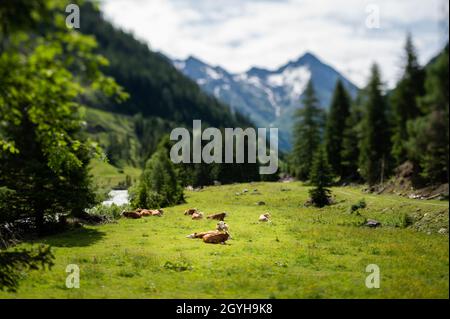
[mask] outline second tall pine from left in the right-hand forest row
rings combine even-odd
[[[350,116],[350,98],[342,82],[338,80],[327,118],[325,145],[333,173],[342,176],[342,149],[344,131]]]

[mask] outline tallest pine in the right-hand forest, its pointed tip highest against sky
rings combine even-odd
[[[417,61],[411,35],[406,39],[405,59],[403,76],[391,98],[394,124],[392,155],[396,165],[402,164],[407,159],[408,121],[421,115],[418,97],[424,94],[425,72]]]

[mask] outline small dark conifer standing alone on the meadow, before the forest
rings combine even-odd
[[[330,204],[331,191],[328,189],[333,182],[332,167],[328,163],[327,156],[322,147],[314,154],[313,165],[310,174],[310,182],[315,186],[310,190],[311,202],[317,207]]]

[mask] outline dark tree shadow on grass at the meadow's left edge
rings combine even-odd
[[[39,242],[54,247],[86,247],[103,239],[105,233],[92,228],[79,228],[42,238]]]

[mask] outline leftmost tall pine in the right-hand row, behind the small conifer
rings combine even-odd
[[[294,175],[306,180],[309,177],[313,155],[321,143],[325,116],[318,105],[312,81],[309,81],[303,98],[303,107],[297,111],[294,128],[294,147],[291,165]]]

